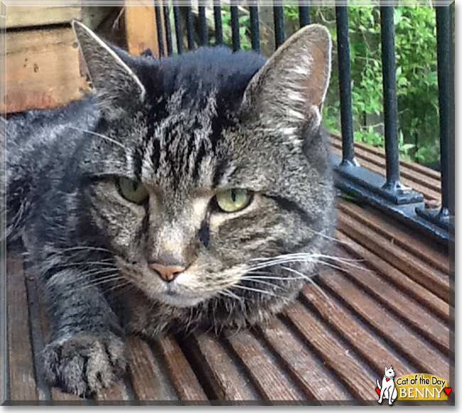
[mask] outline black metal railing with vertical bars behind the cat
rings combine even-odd
[[[195,26],[191,6],[182,6],[173,1],[173,17],[176,31],[178,53],[183,53],[183,27],[181,26],[181,11],[184,8],[186,22],[186,38],[188,50],[194,50]],[[156,21],[158,22],[159,53],[171,55],[172,36],[169,18],[168,1],[163,0],[163,6],[156,6]],[[344,4],[344,2],[343,2]],[[215,43],[223,44],[223,27],[220,0],[210,2],[213,5],[215,23]],[[252,49],[259,52],[259,6],[257,0],[248,0],[249,23]],[[310,23],[309,1],[299,0],[300,26]],[[285,41],[284,6],[275,2],[274,14],[274,44],[278,48]],[[450,145],[454,143],[454,95],[453,95],[453,36],[451,33],[451,6],[435,6],[436,10],[436,45],[439,86],[439,123],[440,123],[440,153],[441,153],[441,207],[426,208],[424,197],[412,188],[407,188],[399,179],[399,146],[398,146],[398,107],[397,81],[394,51],[394,7],[380,6],[380,33],[382,45],[382,79],[385,124],[385,154],[386,176],[370,171],[360,166],[355,159],[355,144],[353,139],[353,109],[350,77],[350,45],[348,38],[348,8],[335,6],[335,20],[338,45],[338,76],[340,92],[340,123],[342,134],[342,156],[333,155],[337,171],[337,185],[347,193],[392,214],[414,228],[423,230],[436,240],[447,243],[454,237],[453,188],[450,188]],[[205,6],[198,6],[198,46],[208,45],[208,23]],[[161,26],[161,12],[165,28]],[[232,48],[240,50],[240,22],[237,0],[230,0],[230,25],[232,28]],[[166,32],[166,48],[163,45],[162,31]],[[452,197],[451,197],[452,195]]]

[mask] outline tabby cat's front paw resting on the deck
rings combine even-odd
[[[42,357],[50,385],[82,397],[111,385],[127,365],[124,342],[112,333],[80,333],[55,340]]]

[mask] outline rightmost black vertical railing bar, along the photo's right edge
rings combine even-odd
[[[436,56],[438,62],[439,148],[441,158],[441,213],[449,208],[449,6],[436,6]]]

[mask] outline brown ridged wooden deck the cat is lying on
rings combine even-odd
[[[360,145],[358,157],[383,171],[379,150]],[[438,200],[437,173],[413,164],[402,169],[404,183]],[[354,261],[322,269],[316,284],[268,326],[222,338],[196,334],[146,343],[131,337],[126,377],[96,401],[45,384],[38,363],[47,335],[41,297],[21,260],[9,257],[7,398],[11,404],[375,404],[375,380],[385,365],[393,365],[397,377],[428,372],[451,384],[448,250],[342,199],[336,237],[332,254]]]

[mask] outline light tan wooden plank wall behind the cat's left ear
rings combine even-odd
[[[6,6],[5,96],[1,112],[49,108],[79,99],[85,70],[70,21],[97,28],[114,7]]]

